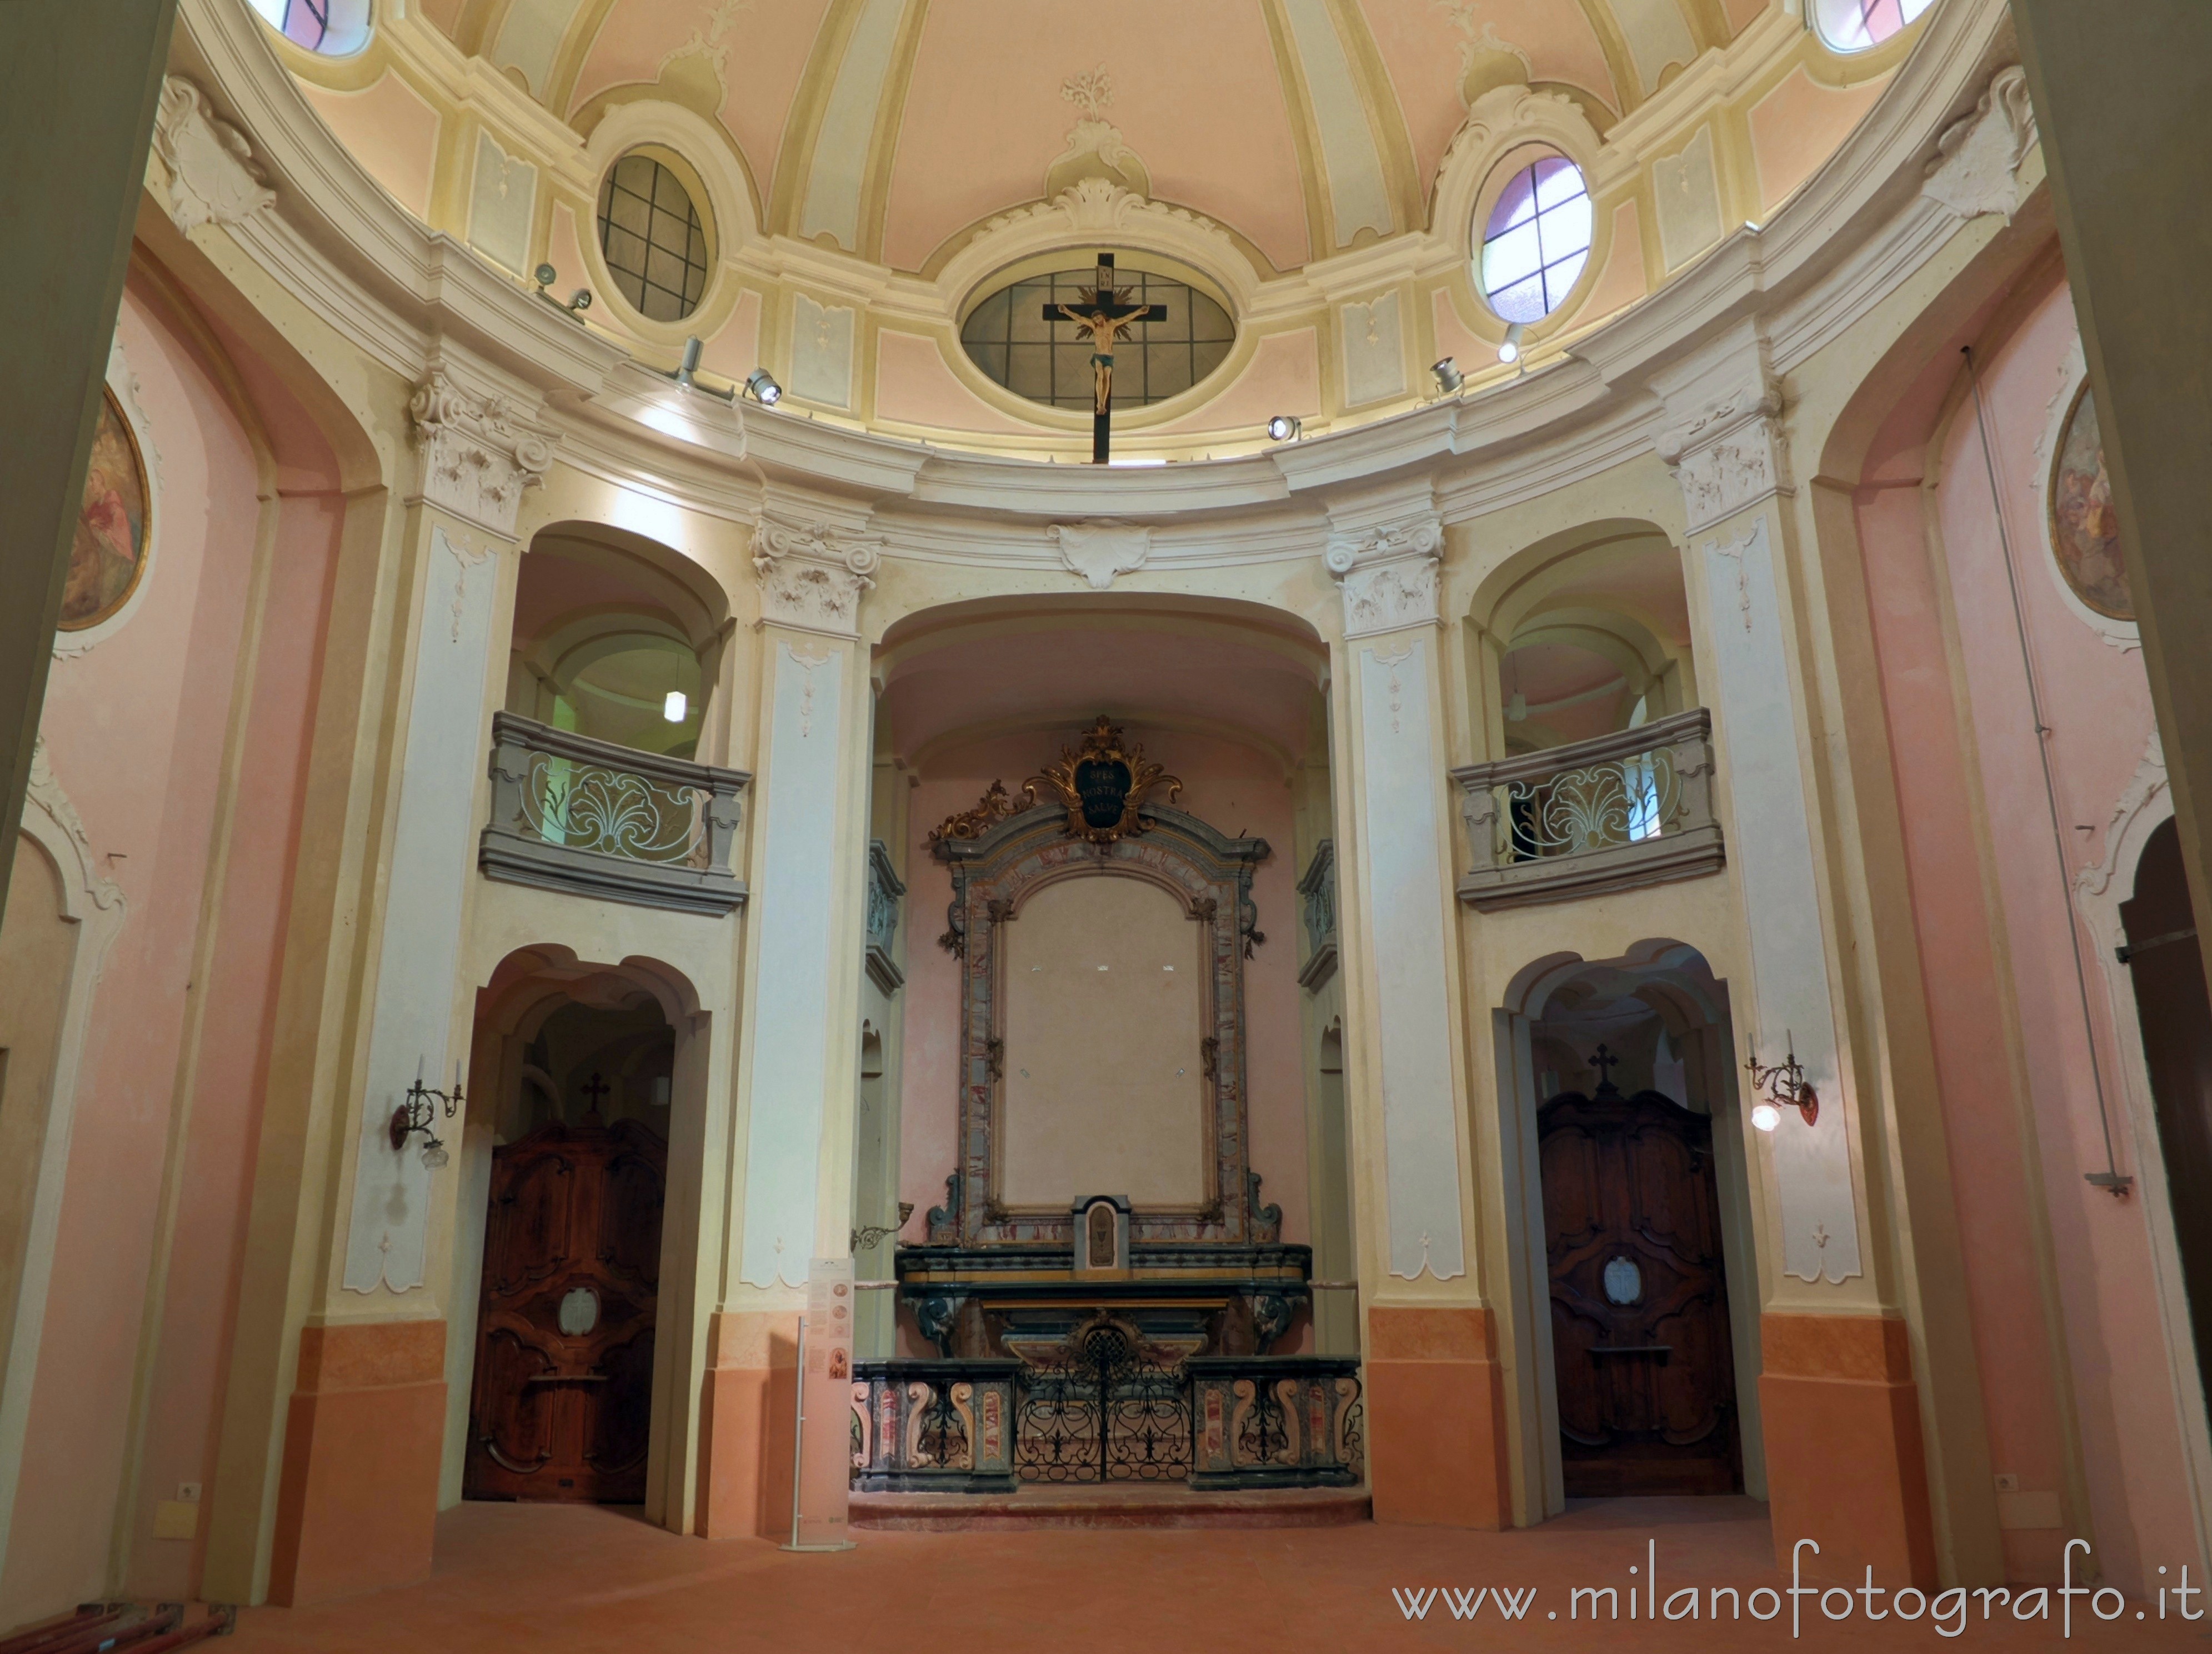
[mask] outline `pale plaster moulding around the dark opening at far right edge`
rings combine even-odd
[[[2166,1174],[2166,1145],[2159,1139],[2159,1110],[2150,1095],[2150,1061],[2143,1055],[2135,977],[2117,953],[2128,940],[2119,904],[2135,896],[2135,873],[2143,849],[2172,814],[2174,796],[2166,785],[2166,750],[2159,745],[2159,732],[2152,730],[2135,774],[2112,800],[2112,814],[2104,829],[2104,860],[2075,873],[2073,900],[2097,944],[2097,969],[2104,980],[2106,1006],[2112,1013],[2112,1037],[2119,1046],[2126,1134],[2135,1150],[2135,1174],[2143,1192],[2143,1227],[2150,1234],[2159,1325],[2166,1331],[2166,1371],[2174,1389],[2174,1411],[2179,1413],[2174,1426],[2183,1442],[2190,1515],[2197,1521],[2197,1554],[2201,1557],[2212,1550],[2212,1395],[2205,1391],[2205,1375],[2197,1369],[2188,1278],[2181,1269],[2181,1240],[2174,1234],[2174,1194]]]

